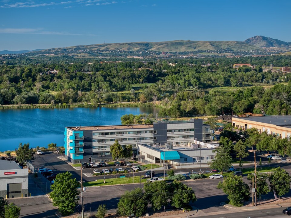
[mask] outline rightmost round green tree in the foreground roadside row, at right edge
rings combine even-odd
[[[290,176],[283,168],[276,168],[269,177],[271,191],[280,196],[289,192],[290,189]]]

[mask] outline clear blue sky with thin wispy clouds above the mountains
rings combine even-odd
[[[0,0],[0,51],[101,43],[291,41],[289,0]]]

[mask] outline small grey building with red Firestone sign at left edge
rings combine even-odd
[[[28,197],[28,169],[0,160],[0,198]]]

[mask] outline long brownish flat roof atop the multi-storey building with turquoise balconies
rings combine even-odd
[[[154,128],[154,124],[136,124],[136,125],[111,125],[111,126],[79,126],[79,127],[66,127],[73,131],[80,130],[130,130],[130,129],[148,129]]]

